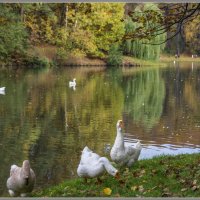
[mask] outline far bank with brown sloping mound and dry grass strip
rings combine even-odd
[[[62,58],[61,58],[62,57]],[[168,62],[200,62],[200,58],[192,58],[191,56],[181,55],[179,58],[174,56],[162,55],[160,60],[142,60],[133,58],[130,56],[122,56],[122,65],[124,67],[142,67],[142,66],[165,66]],[[28,68],[43,68],[43,67],[60,67],[60,66],[103,66],[109,67],[106,62],[106,58],[89,58],[78,57],[74,55],[62,55],[58,54],[58,49],[51,45],[32,46],[29,48],[24,57],[18,58],[18,60],[12,60],[8,63],[0,61],[0,66],[20,66]]]

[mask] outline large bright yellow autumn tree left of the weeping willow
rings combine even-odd
[[[123,15],[123,3],[69,4],[67,30],[69,41],[73,41],[71,47],[78,47],[89,56],[105,57],[110,46],[124,35]],[[80,46],[82,38],[88,40],[86,43],[90,44],[90,48]]]

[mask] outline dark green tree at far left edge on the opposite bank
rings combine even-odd
[[[20,15],[7,4],[0,4],[0,59],[16,59],[27,47],[27,33]]]

